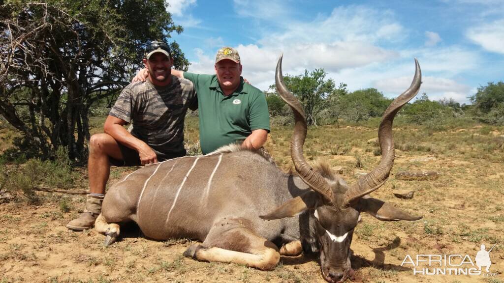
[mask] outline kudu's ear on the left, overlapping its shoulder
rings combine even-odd
[[[308,208],[316,208],[322,203],[322,196],[318,192],[308,191],[300,196],[296,196],[267,215],[259,216],[264,220],[282,219],[299,215]]]

